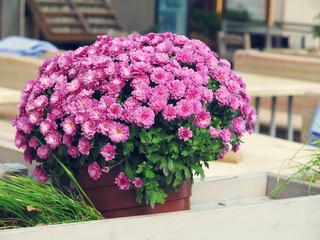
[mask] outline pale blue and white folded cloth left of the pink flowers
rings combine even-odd
[[[20,36],[10,36],[0,41],[0,53],[16,56],[38,56],[47,50],[58,50],[53,44]]]

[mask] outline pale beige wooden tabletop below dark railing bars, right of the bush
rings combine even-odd
[[[237,164],[221,161],[209,162],[209,169],[204,169],[207,177],[251,174],[259,172],[290,174],[296,171],[289,159],[296,154],[298,163],[306,163],[311,159],[311,146],[291,142],[280,138],[273,138],[263,134],[245,134],[239,153],[243,160]],[[299,153],[298,150],[302,149]]]

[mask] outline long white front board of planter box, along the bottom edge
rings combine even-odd
[[[32,239],[319,239],[319,196],[244,207],[183,211],[1,230],[0,238]]]

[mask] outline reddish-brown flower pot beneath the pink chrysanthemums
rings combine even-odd
[[[180,185],[180,191],[171,191],[164,204],[156,204],[154,208],[136,202],[136,191],[119,190],[115,184],[118,171],[103,174],[97,181],[90,178],[87,168],[77,169],[75,175],[78,183],[86,192],[92,203],[105,218],[126,217],[154,213],[182,211],[190,209],[190,181]]]

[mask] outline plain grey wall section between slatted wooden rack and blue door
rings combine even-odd
[[[111,0],[128,32],[144,33],[154,25],[155,0]]]

